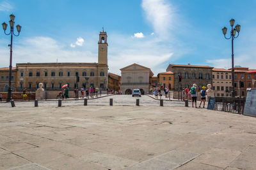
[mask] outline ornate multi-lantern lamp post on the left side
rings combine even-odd
[[[6,102],[10,102],[12,99],[12,83],[11,83],[11,81],[12,81],[12,39],[13,39],[13,35],[19,36],[20,30],[21,30],[21,26],[17,25],[16,29],[18,31],[18,34],[17,35],[14,34],[14,32],[13,32],[14,31],[14,23],[15,23],[14,18],[15,18],[15,16],[13,14],[10,15],[11,20],[9,21],[9,24],[10,24],[10,33],[9,34],[6,33],[6,29],[7,29],[8,25],[5,22],[2,24],[3,29],[4,29],[4,34],[6,34],[6,35],[11,34],[11,44],[8,45],[8,46],[10,46],[10,66],[9,66],[9,87],[8,87],[8,96],[7,96]]]

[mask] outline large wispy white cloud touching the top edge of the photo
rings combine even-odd
[[[142,0],[141,6],[154,31],[161,38],[168,36],[175,15],[173,6],[166,0]]]

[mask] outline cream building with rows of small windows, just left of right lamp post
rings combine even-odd
[[[215,96],[232,96],[232,73],[228,69],[212,69],[212,89]]]

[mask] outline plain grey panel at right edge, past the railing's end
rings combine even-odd
[[[256,117],[256,89],[247,89],[244,115]]]

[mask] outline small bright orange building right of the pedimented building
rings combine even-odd
[[[169,90],[173,89],[174,85],[174,74],[172,71],[166,71],[163,73],[158,73],[157,78],[159,80],[159,83],[157,86],[161,89],[167,87]]]

